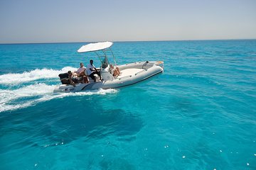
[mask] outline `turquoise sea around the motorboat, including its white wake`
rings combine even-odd
[[[0,169],[256,169],[256,40],[114,42],[164,73],[53,94],[81,45],[0,45]]]

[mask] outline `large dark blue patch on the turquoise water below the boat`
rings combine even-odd
[[[118,136],[118,140],[134,140],[134,135],[143,127],[138,114],[106,108],[100,98],[58,98],[11,113],[13,116],[6,116],[2,125],[14,127],[16,124],[16,128],[5,135],[16,131],[21,139],[6,147],[53,147],[75,140],[93,142],[113,135]]]

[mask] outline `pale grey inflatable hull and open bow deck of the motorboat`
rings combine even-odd
[[[75,87],[63,84],[57,86],[54,92],[77,92],[95,89],[114,89],[122,86],[129,86],[164,72],[163,64],[164,62],[135,62],[119,65],[118,67],[122,74],[113,80],[98,81],[89,84],[75,84]]]

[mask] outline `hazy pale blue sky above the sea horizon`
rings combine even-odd
[[[0,43],[255,38],[256,0],[0,0]]]

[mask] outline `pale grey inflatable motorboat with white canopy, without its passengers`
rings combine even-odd
[[[144,61],[117,65],[114,54],[110,48],[112,45],[113,42],[96,42],[82,45],[78,52],[95,52],[97,57],[99,57],[101,62],[101,66],[99,68],[100,77],[95,74],[97,81],[92,81],[91,79],[89,83],[79,83],[75,85],[61,84],[55,88],[54,92],[60,93],[95,89],[115,89],[136,84],[148,79],[149,77],[153,77],[156,74],[164,72],[163,61]],[[121,74],[113,76],[111,63],[109,62],[107,55],[112,55],[114,67],[118,67]]]

